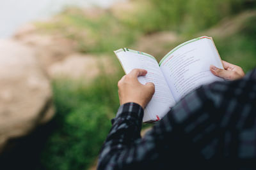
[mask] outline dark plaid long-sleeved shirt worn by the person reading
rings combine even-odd
[[[98,169],[256,169],[256,69],[191,92],[144,138],[142,118],[120,106]]]

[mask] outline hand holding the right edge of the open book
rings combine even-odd
[[[243,78],[244,71],[241,67],[230,64],[229,62],[226,62],[224,60],[222,60],[222,63],[224,69],[220,69],[212,65],[210,66],[212,74],[221,78],[225,78],[226,80],[237,80],[239,78]]]

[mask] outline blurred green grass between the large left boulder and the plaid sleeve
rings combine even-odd
[[[87,169],[99,154],[118,108],[116,79],[102,76],[92,85],[56,80],[56,117],[42,169]]]

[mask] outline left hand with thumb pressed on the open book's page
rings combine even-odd
[[[145,69],[132,69],[132,71],[123,76],[118,81],[118,95],[120,104],[137,103],[142,108],[145,108],[151,100],[154,92],[154,83],[141,84],[138,81],[138,76],[145,76],[147,71]]]

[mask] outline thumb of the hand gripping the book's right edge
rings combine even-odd
[[[237,76],[235,71],[220,69],[212,65],[210,66],[210,70],[215,76],[225,78],[226,80],[234,80]]]

